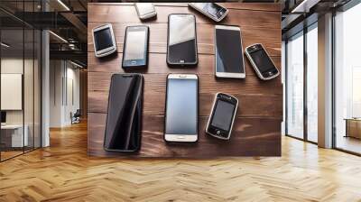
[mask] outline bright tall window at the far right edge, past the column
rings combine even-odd
[[[361,153],[361,4],[335,16],[334,144]]]

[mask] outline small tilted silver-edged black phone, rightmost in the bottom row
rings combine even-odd
[[[218,93],[208,118],[206,133],[222,140],[229,140],[236,118],[238,99],[224,93]]]

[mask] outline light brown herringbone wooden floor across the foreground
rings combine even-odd
[[[88,158],[87,125],[0,163],[0,201],[361,201],[361,158],[282,138],[280,158]]]

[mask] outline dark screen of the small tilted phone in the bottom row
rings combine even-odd
[[[212,117],[211,125],[225,131],[229,131],[233,114],[235,112],[235,105],[218,99],[215,112]]]

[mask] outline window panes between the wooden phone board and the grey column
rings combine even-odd
[[[286,41],[285,133],[308,142],[318,140],[317,23]]]

